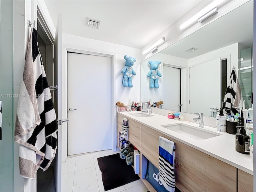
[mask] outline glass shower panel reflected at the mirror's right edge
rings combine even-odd
[[[238,78],[242,91],[242,96],[245,102],[245,108],[252,107],[251,96],[253,90],[253,62],[252,48],[240,50],[241,61],[238,62]]]

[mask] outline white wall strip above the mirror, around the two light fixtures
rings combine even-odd
[[[180,30],[180,25],[183,24],[185,21],[187,21],[189,18],[194,16],[198,11],[200,11],[202,8],[204,8],[207,4],[209,4],[210,1],[205,0],[198,3],[194,8],[192,8],[189,12],[187,12],[184,16],[182,16],[179,20],[177,20],[174,24],[172,24],[170,27],[168,27],[166,30],[164,30],[162,33],[160,33],[156,38],[154,38],[152,41],[150,41],[146,46],[144,46],[141,49],[141,60],[144,61],[145,59],[149,58],[150,56],[164,50],[165,48],[169,47],[170,45],[178,42],[179,40],[183,39],[184,37],[192,34],[193,32],[199,30],[200,28],[210,24],[214,20],[220,18],[221,16],[229,13],[230,11],[238,8],[242,4],[248,2],[249,0],[232,0],[227,1],[226,4],[221,6],[219,8],[219,12],[215,14],[214,16],[210,17],[208,20],[198,23],[196,22],[194,25],[190,26],[187,29]],[[148,47],[150,47],[152,44],[154,44],[157,40],[160,38],[165,37],[166,41],[164,44],[158,46],[158,50],[154,53],[148,53],[143,55],[142,52],[146,50]]]

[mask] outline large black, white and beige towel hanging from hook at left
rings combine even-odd
[[[38,168],[46,170],[57,149],[57,119],[50,88],[32,29],[26,54],[15,124],[15,141],[20,144],[20,175],[34,178]]]

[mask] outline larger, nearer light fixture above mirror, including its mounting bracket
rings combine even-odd
[[[207,18],[213,16],[218,12],[218,5],[223,3],[225,0],[215,0],[212,3],[210,3],[208,6],[200,10],[197,14],[192,16],[189,20],[184,22],[183,24],[180,25],[180,30],[183,30],[184,28],[190,26],[194,22],[203,22]],[[201,23],[200,22],[200,23]]]

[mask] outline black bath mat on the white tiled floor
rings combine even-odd
[[[102,172],[102,181],[105,191],[120,187],[139,178],[132,166],[121,159],[119,153],[98,158],[99,168]]]

